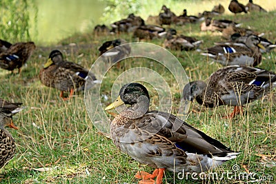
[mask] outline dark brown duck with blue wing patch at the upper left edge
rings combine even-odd
[[[13,70],[18,68],[19,74],[21,72],[21,67],[35,49],[34,42],[20,42],[10,45],[6,51],[0,53],[0,68]]]

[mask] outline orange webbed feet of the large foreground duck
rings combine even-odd
[[[139,181],[139,184],[161,184],[164,170],[164,168],[159,168],[152,172],[152,174],[144,171],[137,172],[137,174],[135,174],[135,178],[142,179],[141,181]],[[155,177],[156,181],[153,180],[153,178]]]

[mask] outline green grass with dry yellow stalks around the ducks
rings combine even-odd
[[[271,41],[276,38],[275,14],[241,14],[236,17],[224,15],[221,18],[243,22],[244,27],[249,27],[259,32],[264,32],[265,37]],[[174,26],[172,26],[174,27]],[[217,33],[200,32],[199,23],[175,27],[181,34],[204,39],[201,49],[213,45],[215,41],[222,41]],[[130,34],[121,34],[128,41],[135,41]],[[134,178],[138,170],[152,172],[152,168],[139,165],[126,154],[117,150],[112,141],[103,136],[90,121],[83,103],[83,93],[76,94],[69,101],[59,98],[59,91],[43,86],[38,74],[41,65],[46,62],[51,50],[58,48],[66,55],[66,59],[90,68],[97,59],[97,48],[103,41],[117,38],[116,35],[108,37],[94,37],[92,32],[75,34],[64,39],[59,46],[52,45],[48,48],[38,46],[28,65],[23,67],[21,75],[11,75],[6,70],[0,70],[1,86],[0,96],[3,99],[21,101],[26,109],[15,116],[14,122],[19,130],[8,131],[17,143],[17,154],[6,167],[0,171],[1,183],[137,183]],[[163,40],[152,40],[151,43],[162,45]],[[77,43],[77,45],[68,45]],[[172,51],[181,65],[185,68],[190,80],[207,79],[221,65],[207,61],[199,52]],[[275,51],[264,54],[260,68],[275,71]],[[124,70],[133,68],[130,61],[122,63]],[[161,68],[157,63],[150,65],[147,59],[135,62],[135,66],[152,68],[164,76],[170,84],[173,98],[172,112],[179,108],[181,91],[171,74]],[[103,81],[101,94],[110,96],[112,83],[123,70],[114,68],[108,72]],[[152,89],[152,88],[151,88]],[[159,99],[155,90],[150,90],[151,109],[158,107]],[[240,172],[256,173],[255,178],[273,176],[274,181],[262,183],[275,183],[275,145],[276,145],[276,115],[275,115],[275,90],[264,99],[246,105],[246,112],[233,120],[221,119],[221,116],[233,110],[230,107],[215,109],[201,109],[200,113],[190,112],[186,121],[202,130],[209,136],[242,153],[234,161],[217,168],[219,174],[232,170],[234,164],[239,165]],[[103,101],[108,105],[111,99]],[[190,109],[201,107],[192,103]],[[274,164],[274,166],[273,166]],[[36,169],[50,168],[47,172]],[[270,178],[271,179],[271,178]],[[164,178],[167,183],[246,183],[239,178],[219,180],[206,179],[201,181],[179,180],[171,172],[166,172]],[[255,181],[258,183],[257,181]]]

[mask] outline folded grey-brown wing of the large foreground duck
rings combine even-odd
[[[204,134],[188,123],[177,119],[176,116],[152,111],[144,115],[138,127],[146,128],[148,132],[172,141],[176,147],[184,152],[197,154],[222,154],[231,152],[228,147],[219,141]]]

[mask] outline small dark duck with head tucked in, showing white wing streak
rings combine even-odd
[[[104,42],[101,47],[99,47],[99,56],[103,57],[103,61],[116,63],[124,57],[128,57],[131,52],[131,48],[125,39],[115,39]],[[120,46],[119,46],[120,45]],[[119,46],[119,47],[118,47]],[[112,51],[107,52],[108,50]],[[117,67],[119,68],[119,62],[117,62]]]

